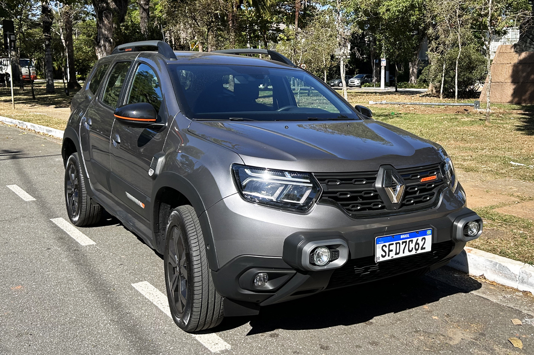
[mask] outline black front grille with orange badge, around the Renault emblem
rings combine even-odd
[[[402,204],[396,211],[388,211],[380,194],[375,189],[378,172],[359,173],[315,173],[323,187],[321,200],[334,203],[351,217],[368,215],[388,215],[409,213],[435,206],[444,182],[439,164],[397,171],[406,183]],[[421,179],[436,175],[437,179],[420,182]]]

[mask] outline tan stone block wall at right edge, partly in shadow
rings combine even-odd
[[[480,94],[482,102],[486,83]],[[515,52],[513,45],[498,47],[491,64],[491,102],[534,103],[534,52]]]

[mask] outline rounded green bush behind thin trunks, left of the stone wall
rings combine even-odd
[[[441,86],[443,61],[445,60],[443,95],[447,98],[454,98],[454,67],[456,66],[457,56],[457,48],[451,50],[446,56],[436,56],[433,64],[427,66],[421,72],[420,83],[434,83],[439,88]],[[458,97],[478,97],[477,88],[484,82],[486,75],[488,75],[488,71],[484,55],[478,51],[475,45],[462,47],[458,62]]]

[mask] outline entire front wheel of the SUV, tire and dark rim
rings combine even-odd
[[[192,206],[170,213],[163,262],[170,313],[178,327],[190,333],[221,324],[223,297],[211,279],[200,222]]]

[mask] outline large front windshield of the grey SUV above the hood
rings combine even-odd
[[[169,68],[191,119],[360,119],[349,104],[302,70],[223,64]]]

